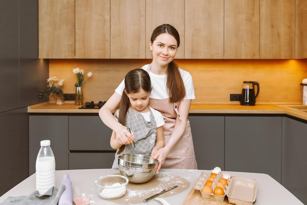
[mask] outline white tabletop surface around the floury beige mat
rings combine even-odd
[[[210,173],[207,170],[177,170],[177,169],[162,169],[160,172],[169,173],[186,178],[190,182],[190,187],[185,191],[170,197],[164,198],[171,205],[182,205],[184,199],[187,197],[192,186],[202,172]],[[224,172],[224,171],[223,171]],[[111,201],[101,199],[98,194],[95,194],[96,186],[94,181],[100,177],[110,174],[117,174],[118,170],[114,169],[91,169],[91,170],[60,170],[56,171],[56,183],[58,188],[64,174],[69,174],[70,179],[75,185],[80,187],[81,192],[91,195],[91,205],[118,205]],[[304,205],[292,193],[284,188],[279,182],[271,176],[259,173],[244,173],[244,172],[228,172],[231,176],[241,176],[246,178],[256,179],[258,183],[257,196],[255,205]],[[17,184],[11,190],[0,197],[0,203],[7,197],[25,196],[29,195],[35,190],[35,174],[29,176],[24,181]],[[162,195],[163,196],[163,195]],[[75,192],[73,197],[77,197]],[[145,205],[141,203],[138,205]],[[150,201],[148,205],[161,205],[160,202]]]

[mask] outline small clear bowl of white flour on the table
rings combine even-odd
[[[99,177],[95,184],[102,199],[113,200],[125,195],[128,182],[126,176],[107,175]]]

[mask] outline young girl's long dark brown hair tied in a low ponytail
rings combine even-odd
[[[117,107],[117,109],[119,109],[118,121],[121,124],[126,125],[126,115],[130,106],[130,101],[126,92],[128,94],[136,93],[141,89],[146,92],[150,92],[152,90],[149,74],[141,68],[130,70],[125,77],[125,89],[122,93],[121,101]]]

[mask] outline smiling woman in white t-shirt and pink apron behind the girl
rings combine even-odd
[[[192,76],[173,62],[179,44],[179,33],[174,27],[168,24],[157,27],[153,30],[149,42],[153,61],[142,67],[149,73],[152,81],[149,106],[158,110],[165,121],[165,146],[152,157],[161,162],[162,168],[197,169],[190,123],[187,119],[195,93]],[[101,108],[99,116],[116,132],[117,139],[123,145],[128,145],[131,140],[134,141],[134,136],[112,115],[124,88],[123,81]]]

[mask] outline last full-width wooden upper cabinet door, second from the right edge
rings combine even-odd
[[[295,0],[260,0],[260,59],[293,59],[294,25]]]

